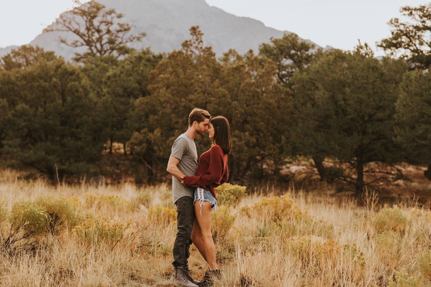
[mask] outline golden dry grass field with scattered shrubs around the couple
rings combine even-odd
[[[168,185],[50,185],[0,174],[0,286],[177,286]],[[356,202],[331,188],[229,192],[212,214],[222,270],[215,286],[431,286],[431,212],[414,201],[381,206],[371,192]],[[35,203],[67,220],[34,232],[31,250],[7,253],[12,219],[39,218]],[[36,226],[21,223],[19,234]],[[202,278],[206,263],[193,245],[189,265]]]

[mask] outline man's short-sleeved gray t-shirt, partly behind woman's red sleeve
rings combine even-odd
[[[197,169],[197,151],[194,141],[186,134],[182,134],[175,139],[172,145],[171,157],[176,157],[180,160],[177,164],[179,170],[186,176],[196,175]],[[172,199],[175,202],[178,198],[190,196],[194,198],[194,190],[192,187],[187,187],[181,184],[181,181],[172,176]]]

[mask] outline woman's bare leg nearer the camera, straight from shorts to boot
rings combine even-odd
[[[205,204],[200,206],[199,201],[195,201],[194,213],[200,228],[200,233],[202,234],[203,250],[205,250],[206,256],[205,261],[208,263],[209,270],[215,270],[217,266],[215,264],[215,246],[211,235],[211,204],[205,202]]]

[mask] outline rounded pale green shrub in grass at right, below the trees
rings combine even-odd
[[[393,230],[404,233],[407,218],[399,208],[384,208],[374,217],[373,225],[378,232]]]

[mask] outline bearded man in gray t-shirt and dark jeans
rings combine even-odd
[[[190,256],[191,231],[194,216],[194,190],[181,184],[181,176],[194,176],[197,169],[197,151],[194,139],[203,136],[208,130],[211,115],[208,111],[194,108],[189,115],[189,127],[185,133],[178,136],[172,145],[169,157],[168,173],[172,174],[172,199],[177,207],[177,236],[174,242],[174,272],[171,281],[177,281],[181,286],[197,287],[199,281],[194,280],[188,269]]]

